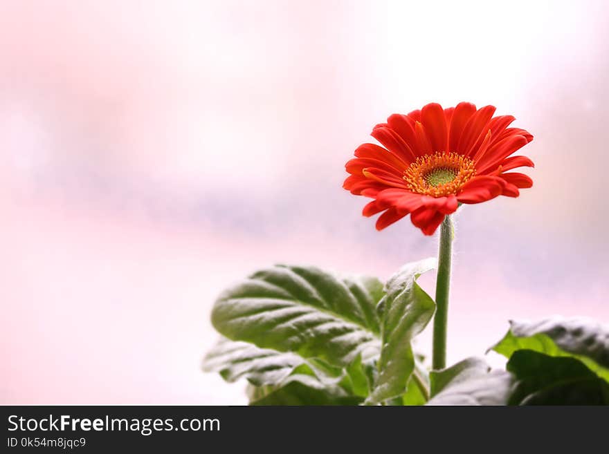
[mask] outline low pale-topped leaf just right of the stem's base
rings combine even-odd
[[[432,371],[430,381],[432,398],[428,405],[505,405],[513,388],[509,372],[491,370],[479,358]]]

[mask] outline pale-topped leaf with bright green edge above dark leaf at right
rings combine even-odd
[[[505,337],[492,349],[507,358],[521,349],[573,357],[609,381],[609,328],[591,319],[511,321]]]

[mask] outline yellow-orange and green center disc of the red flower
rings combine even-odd
[[[473,161],[458,153],[437,151],[419,156],[404,171],[408,189],[432,197],[456,194],[475,175]]]

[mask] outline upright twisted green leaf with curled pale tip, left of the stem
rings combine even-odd
[[[433,269],[435,259],[409,263],[385,285],[386,295],[379,304],[383,315],[379,375],[367,404],[379,404],[406,392],[415,368],[410,341],[424,330],[435,310],[435,303],[417,284],[420,274]]]

